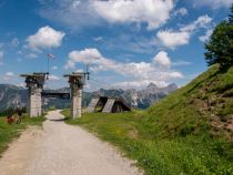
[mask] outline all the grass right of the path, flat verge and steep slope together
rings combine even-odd
[[[68,122],[119,146],[149,175],[233,174],[232,115],[233,68],[215,65],[145,112]]]

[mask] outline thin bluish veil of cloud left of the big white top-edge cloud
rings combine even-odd
[[[99,25],[100,17],[92,4],[93,0],[54,0],[42,3],[39,11],[42,18],[63,24],[72,30]]]

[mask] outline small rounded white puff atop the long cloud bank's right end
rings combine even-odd
[[[155,64],[159,64],[161,66],[164,66],[164,68],[170,68],[171,66],[171,60],[168,55],[166,52],[164,51],[160,51],[153,59],[154,63]]]

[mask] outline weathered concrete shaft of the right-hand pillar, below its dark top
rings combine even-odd
[[[82,115],[82,90],[79,87],[71,89],[71,117],[81,117]]]

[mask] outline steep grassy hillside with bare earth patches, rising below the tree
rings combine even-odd
[[[213,136],[224,135],[233,141],[233,68],[219,72],[219,66],[212,66],[151,106],[144,115],[143,122],[151,122],[146,128],[154,136],[185,136],[210,131]]]

